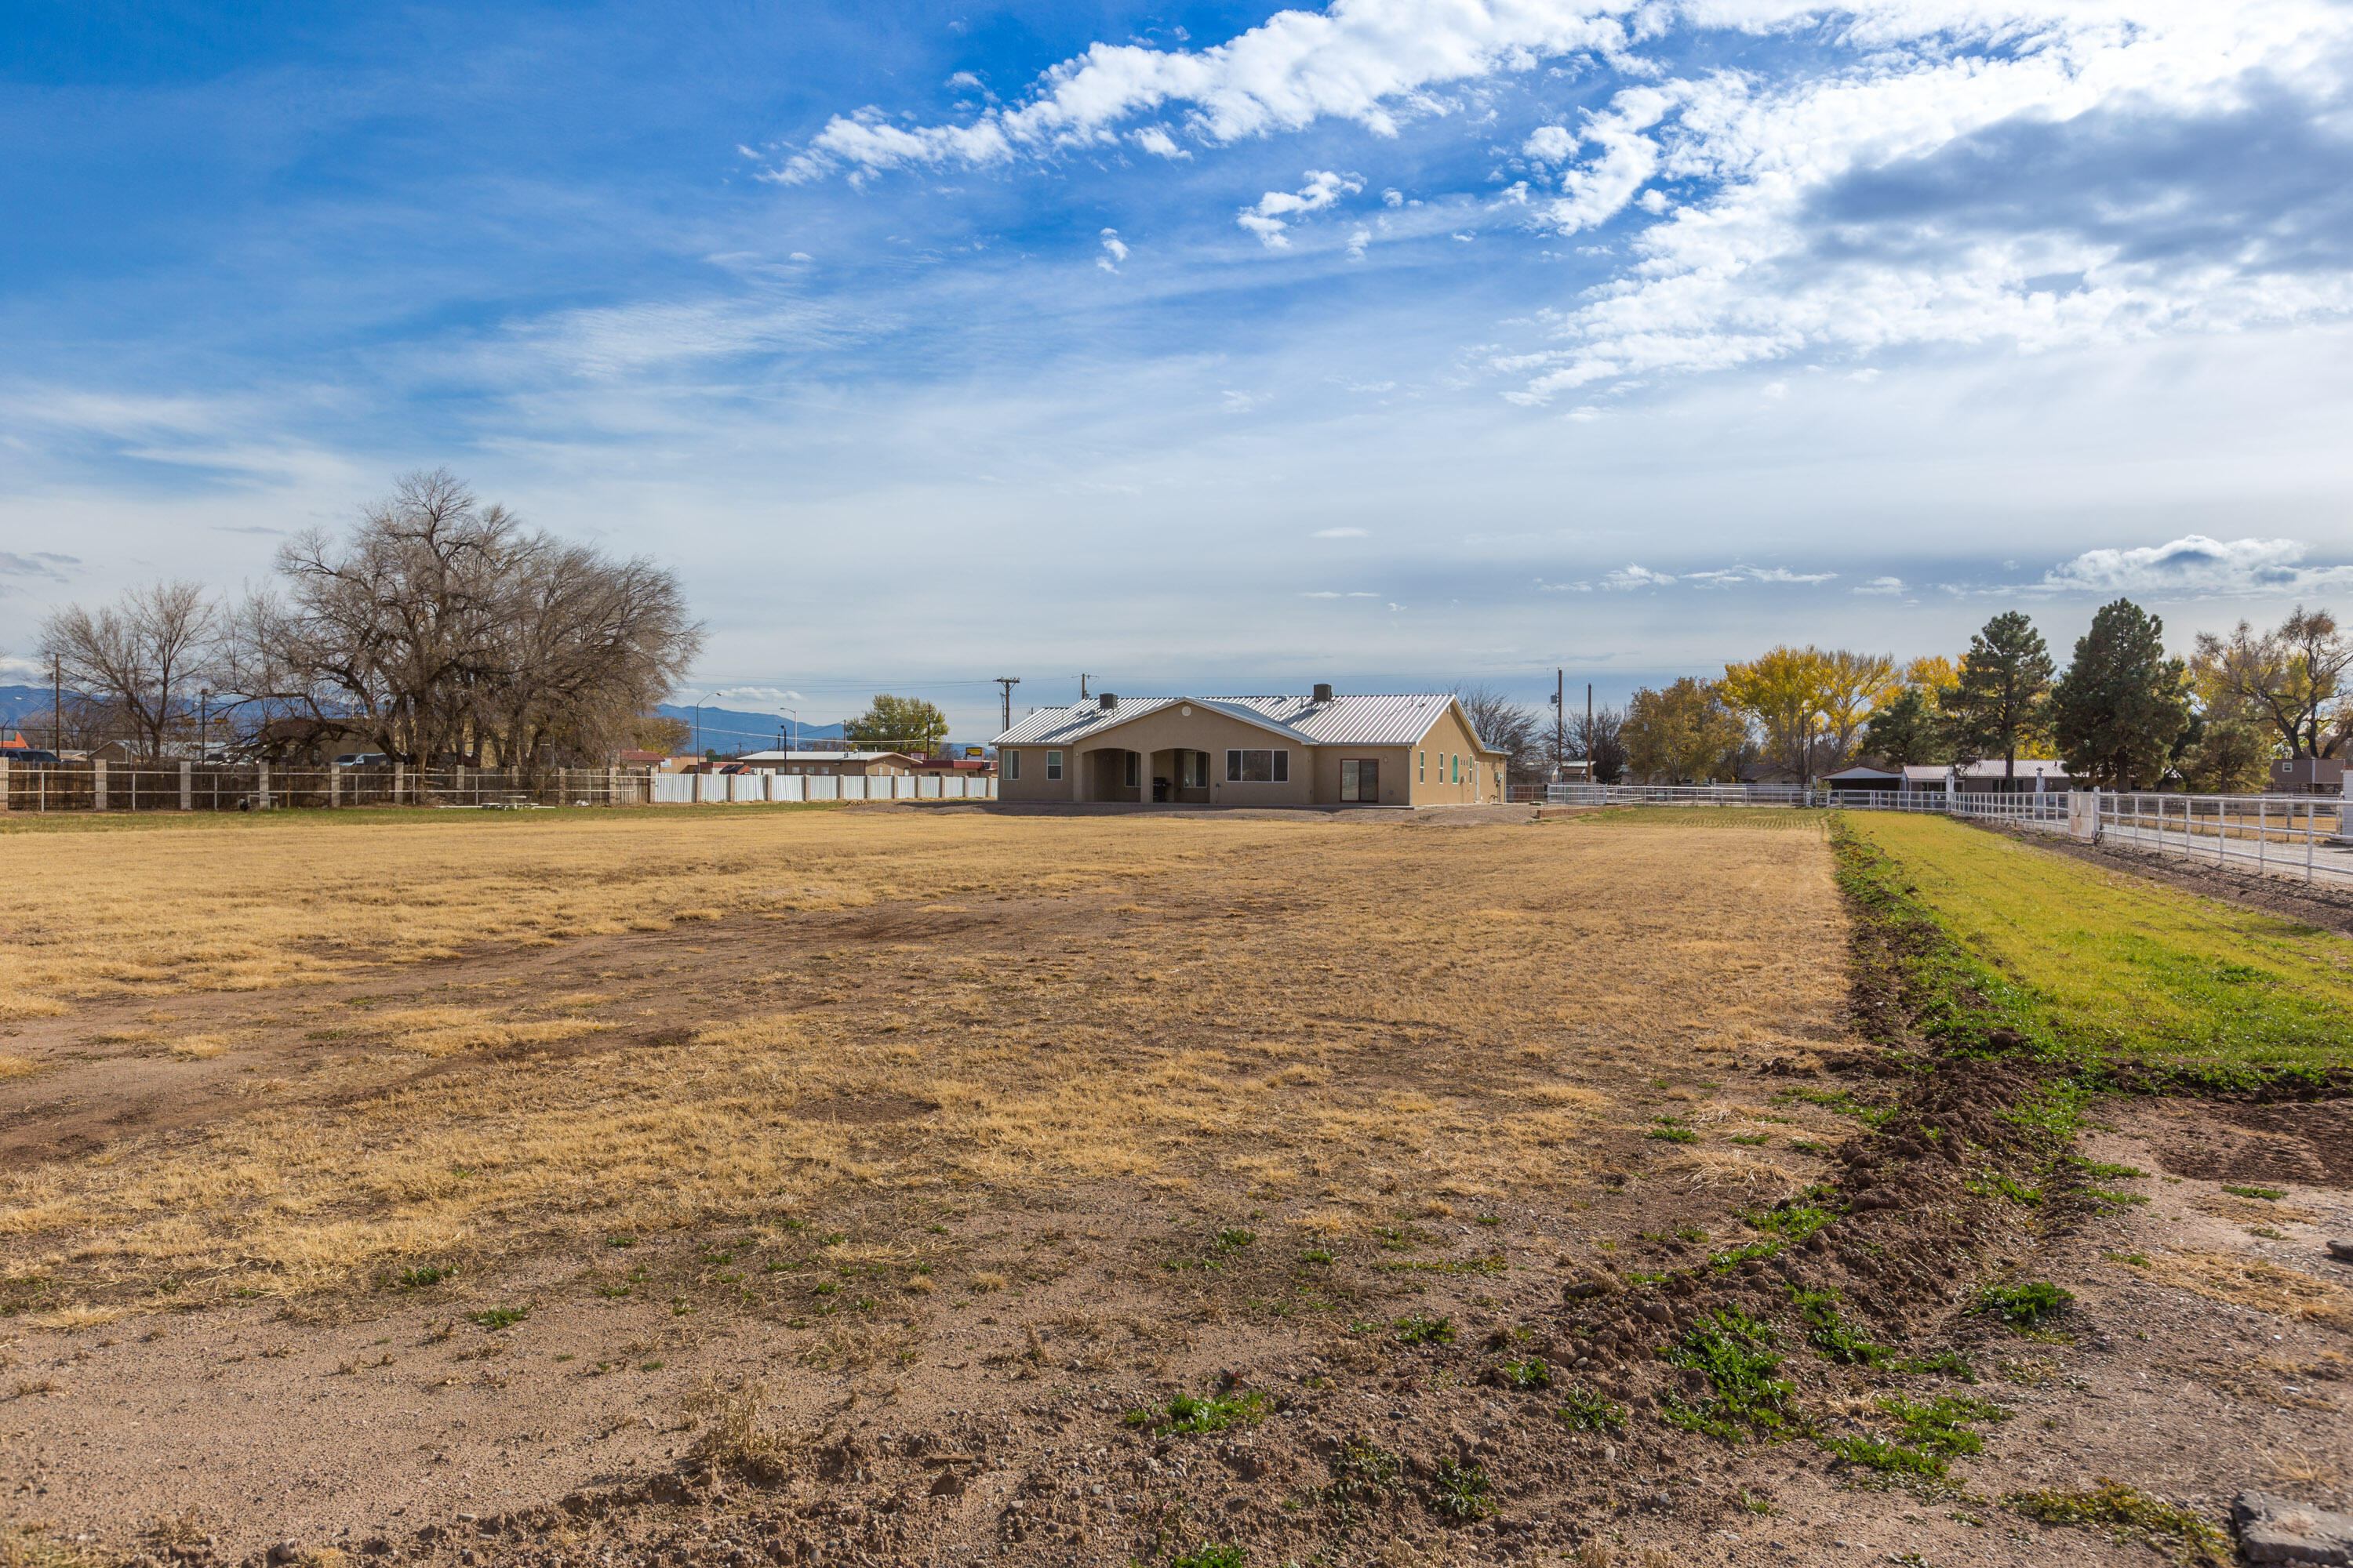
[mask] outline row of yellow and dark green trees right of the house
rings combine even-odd
[[[2200,792],[2264,788],[2275,757],[2353,755],[2353,639],[2327,609],[2301,604],[2275,628],[2240,621],[2200,632],[2188,658],[2165,651],[2165,623],[2129,599],[2092,616],[2061,670],[2021,611],[1986,621],[1958,658],[1899,665],[1889,654],[1777,646],[1635,691],[1621,710],[1555,726],[1492,689],[1461,691],[1480,733],[1513,771],[1591,762],[1598,783],[1720,783],[1762,769],[1812,780],[1852,764],[2057,757],[2108,790],[2179,780]]]

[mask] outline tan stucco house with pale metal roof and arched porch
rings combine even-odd
[[[998,799],[1433,806],[1504,799],[1501,752],[1447,693],[1104,693],[995,741]]]

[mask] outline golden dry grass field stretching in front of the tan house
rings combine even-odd
[[[245,1105],[7,1178],[0,1234],[71,1316],[974,1182],[1249,1190],[1334,1227],[1558,1192],[1619,1114],[1595,1067],[1835,1034],[1809,835],[1711,837],[1706,877],[1659,832],[1322,818],[7,837],[19,1013],[120,1063],[94,1079]]]

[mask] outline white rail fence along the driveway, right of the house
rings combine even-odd
[[[1551,785],[1553,806],[1817,806],[1925,811],[2064,832],[2224,870],[2353,882],[2346,804],[2334,795],[2118,795],[2113,790],[1805,790],[1798,785]]]

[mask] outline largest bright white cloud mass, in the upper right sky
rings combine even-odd
[[[1744,26],[1779,24],[1758,12]],[[1588,118],[1579,139],[1595,153],[1548,209],[1562,233],[1645,212],[1647,179],[1701,190],[1642,223],[1617,280],[1551,317],[1565,346],[1515,402],[1798,353],[2040,353],[2353,310],[2346,268],[2289,256],[2308,242],[2294,223],[2249,212],[2280,235],[2271,249],[2169,216],[2214,205],[2193,181],[2231,176],[2198,174],[2198,155],[2151,141],[2153,127],[2280,99],[2271,125],[2341,125],[2329,106],[2353,12],[2325,0],[1887,0],[1849,9],[1845,42],[1857,52],[1828,68],[1628,87]],[[2313,134],[2341,141],[2341,129]],[[2184,129],[2181,141],[2205,153],[2212,139]],[[2137,146],[2139,162],[2115,150]],[[2047,172],[2068,158],[2108,193]],[[2172,244],[2172,230],[2195,244]]]

